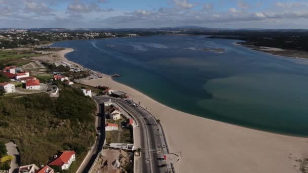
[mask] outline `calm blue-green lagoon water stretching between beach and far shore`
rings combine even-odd
[[[308,136],[308,60],[251,51],[237,40],[149,36],[56,42],[69,60],[180,111]],[[198,51],[223,48],[224,53]]]

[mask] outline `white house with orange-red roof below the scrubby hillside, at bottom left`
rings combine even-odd
[[[63,151],[59,157],[55,155],[55,159],[48,165],[59,166],[61,170],[65,170],[69,168],[73,161],[75,161],[75,152]]]

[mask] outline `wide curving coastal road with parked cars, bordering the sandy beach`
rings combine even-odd
[[[94,97],[98,103],[103,103],[112,99],[113,102],[117,103],[130,115],[132,115],[137,121],[140,128],[140,138],[141,141],[141,160],[142,167],[141,172],[168,172],[171,171],[170,165],[167,169],[166,161],[163,160],[164,154],[168,153],[166,149],[167,145],[165,143],[165,137],[163,135],[161,127],[157,124],[156,119],[149,114],[146,110],[141,107],[133,107],[127,102],[110,98],[110,97]]]

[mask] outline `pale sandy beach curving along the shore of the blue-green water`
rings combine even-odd
[[[64,58],[70,51],[65,49],[56,56],[35,59],[70,62]],[[131,99],[141,102],[141,106],[159,118],[170,152],[180,155],[180,161],[174,164],[176,172],[301,172],[299,159],[308,158],[307,138],[262,132],[180,112],[108,75],[82,83],[106,85],[128,93]]]

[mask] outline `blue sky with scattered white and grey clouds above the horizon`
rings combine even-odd
[[[0,28],[308,29],[308,0],[0,0]]]

